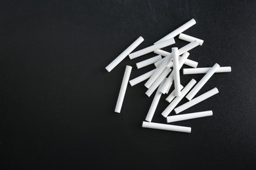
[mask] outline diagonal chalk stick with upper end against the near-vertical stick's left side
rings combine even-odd
[[[168,56],[165,57],[165,60],[163,61],[163,63],[161,63],[160,67],[158,67],[156,69],[156,71],[153,73],[153,75],[150,76],[148,81],[144,84],[144,86],[146,86],[146,88],[150,88],[150,86],[152,86],[152,84],[156,81],[158,76],[161,75],[161,73],[163,72],[165,67],[168,66],[168,64],[171,61],[171,59],[173,59],[173,56],[171,54],[169,54]]]

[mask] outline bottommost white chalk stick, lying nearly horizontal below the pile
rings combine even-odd
[[[153,122],[143,122],[142,127],[146,127],[150,129],[160,129],[160,130],[167,130],[167,131],[179,131],[184,133],[191,133],[191,127],[175,126],[175,125],[169,125],[169,124],[158,124]]]

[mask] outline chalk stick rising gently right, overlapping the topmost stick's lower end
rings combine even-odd
[[[175,43],[174,39],[168,39],[167,41],[163,41],[159,44],[154,44],[152,46],[148,46],[147,48],[144,48],[144,49],[139,50],[137,52],[133,52],[133,53],[129,54],[129,58],[130,59],[138,58],[140,56],[143,56],[144,54],[154,52],[154,50],[158,50],[160,48],[163,48],[165,46],[169,46],[169,45],[174,44],[174,43]]]

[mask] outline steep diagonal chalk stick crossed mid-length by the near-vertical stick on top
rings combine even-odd
[[[188,52],[185,52],[181,58],[179,58],[179,70],[181,69],[181,67],[183,66],[184,62],[186,61],[186,59],[188,58],[190,54]],[[163,84],[163,87],[160,89],[161,93],[167,93],[167,89],[169,87],[171,87],[171,84],[173,83],[174,80],[174,71],[171,72],[171,74],[169,75],[169,77],[167,78],[167,80],[165,81],[165,84]]]

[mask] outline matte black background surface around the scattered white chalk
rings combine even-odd
[[[256,1],[0,1],[2,169],[255,169],[255,9]],[[135,78],[154,68],[135,63],[155,55],[104,67],[140,35],[137,50],[192,18],[185,33],[205,42],[189,58],[232,67],[198,93],[217,95],[184,111],[213,116],[174,123],[190,134],[144,129],[144,83],[128,86],[115,113],[125,65]],[[165,97],[154,122],[165,123]]]

